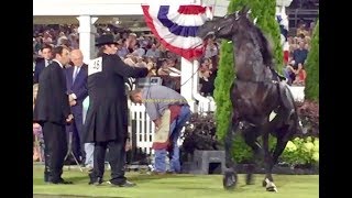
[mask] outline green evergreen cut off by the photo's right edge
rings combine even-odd
[[[305,65],[307,73],[305,98],[311,101],[319,101],[319,21],[317,21],[312,38],[310,42],[310,51],[308,53],[307,64]]]

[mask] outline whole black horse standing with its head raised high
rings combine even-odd
[[[277,191],[273,183],[273,166],[287,142],[295,133],[301,132],[292,92],[274,70],[272,50],[262,31],[249,19],[248,8],[207,21],[198,29],[199,37],[206,40],[210,35],[232,41],[234,48],[235,80],[230,90],[233,110],[224,142],[227,170],[223,186],[234,189],[238,183],[231,147],[233,135],[240,128],[245,143],[253,150],[253,163],[264,153],[266,175],[263,186],[268,191]],[[273,153],[268,151],[270,134],[277,140]],[[257,141],[260,136],[262,145]],[[248,168],[246,184],[252,183],[254,165]]]

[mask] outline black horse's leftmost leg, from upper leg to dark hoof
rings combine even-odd
[[[230,121],[228,132],[224,138],[224,153],[226,153],[226,167],[222,184],[223,188],[227,190],[233,190],[238,183],[238,174],[235,169],[235,162],[232,160],[232,143],[233,136],[239,125],[239,119],[234,114],[232,114],[232,119]]]

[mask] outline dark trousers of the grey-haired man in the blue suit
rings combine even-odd
[[[74,113],[74,122],[66,127],[67,140],[69,138],[69,133],[73,133],[73,153],[75,157],[79,162],[85,162],[86,152],[85,152],[85,143],[82,141],[82,116],[81,113]]]

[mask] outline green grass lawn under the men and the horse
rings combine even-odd
[[[268,193],[262,187],[263,175],[255,176],[255,185],[246,186],[244,175],[240,175],[234,191],[222,188],[221,175],[167,175],[150,176],[141,173],[127,173],[136,183],[134,188],[117,188],[109,184],[89,186],[87,173],[65,168],[63,177],[74,185],[50,185],[43,182],[43,166],[33,168],[33,197],[133,197],[133,198],[318,198],[319,175],[274,175],[278,193]],[[105,178],[110,178],[107,172]],[[50,196],[43,196],[50,195]],[[56,195],[56,196],[55,196]]]

